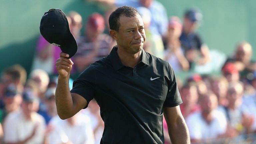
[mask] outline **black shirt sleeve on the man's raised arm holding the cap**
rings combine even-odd
[[[95,72],[93,67],[89,66],[84,72],[82,72],[79,77],[73,82],[73,88],[71,93],[77,93],[84,97],[87,101],[87,106],[89,102],[94,97],[94,83],[95,83]],[[85,108],[87,108],[87,106]]]

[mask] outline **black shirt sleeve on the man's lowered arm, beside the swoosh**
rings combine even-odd
[[[177,81],[176,81],[176,76],[174,74],[173,68],[169,64],[169,86],[168,86],[168,92],[167,96],[164,102],[164,107],[175,107],[177,105],[182,104],[181,96],[179,93]]]

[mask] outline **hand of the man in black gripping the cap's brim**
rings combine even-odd
[[[68,57],[68,54],[61,52],[60,58],[56,61],[56,69],[61,77],[68,77],[74,64]]]

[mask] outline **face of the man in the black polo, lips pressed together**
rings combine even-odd
[[[130,54],[136,54],[141,51],[146,39],[141,16],[139,14],[134,17],[120,16],[119,24],[119,31],[116,32],[115,37],[118,48]]]

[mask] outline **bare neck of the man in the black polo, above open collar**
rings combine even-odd
[[[123,65],[134,68],[141,60],[142,50],[136,54],[128,54],[123,50],[117,50],[117,54]]]

